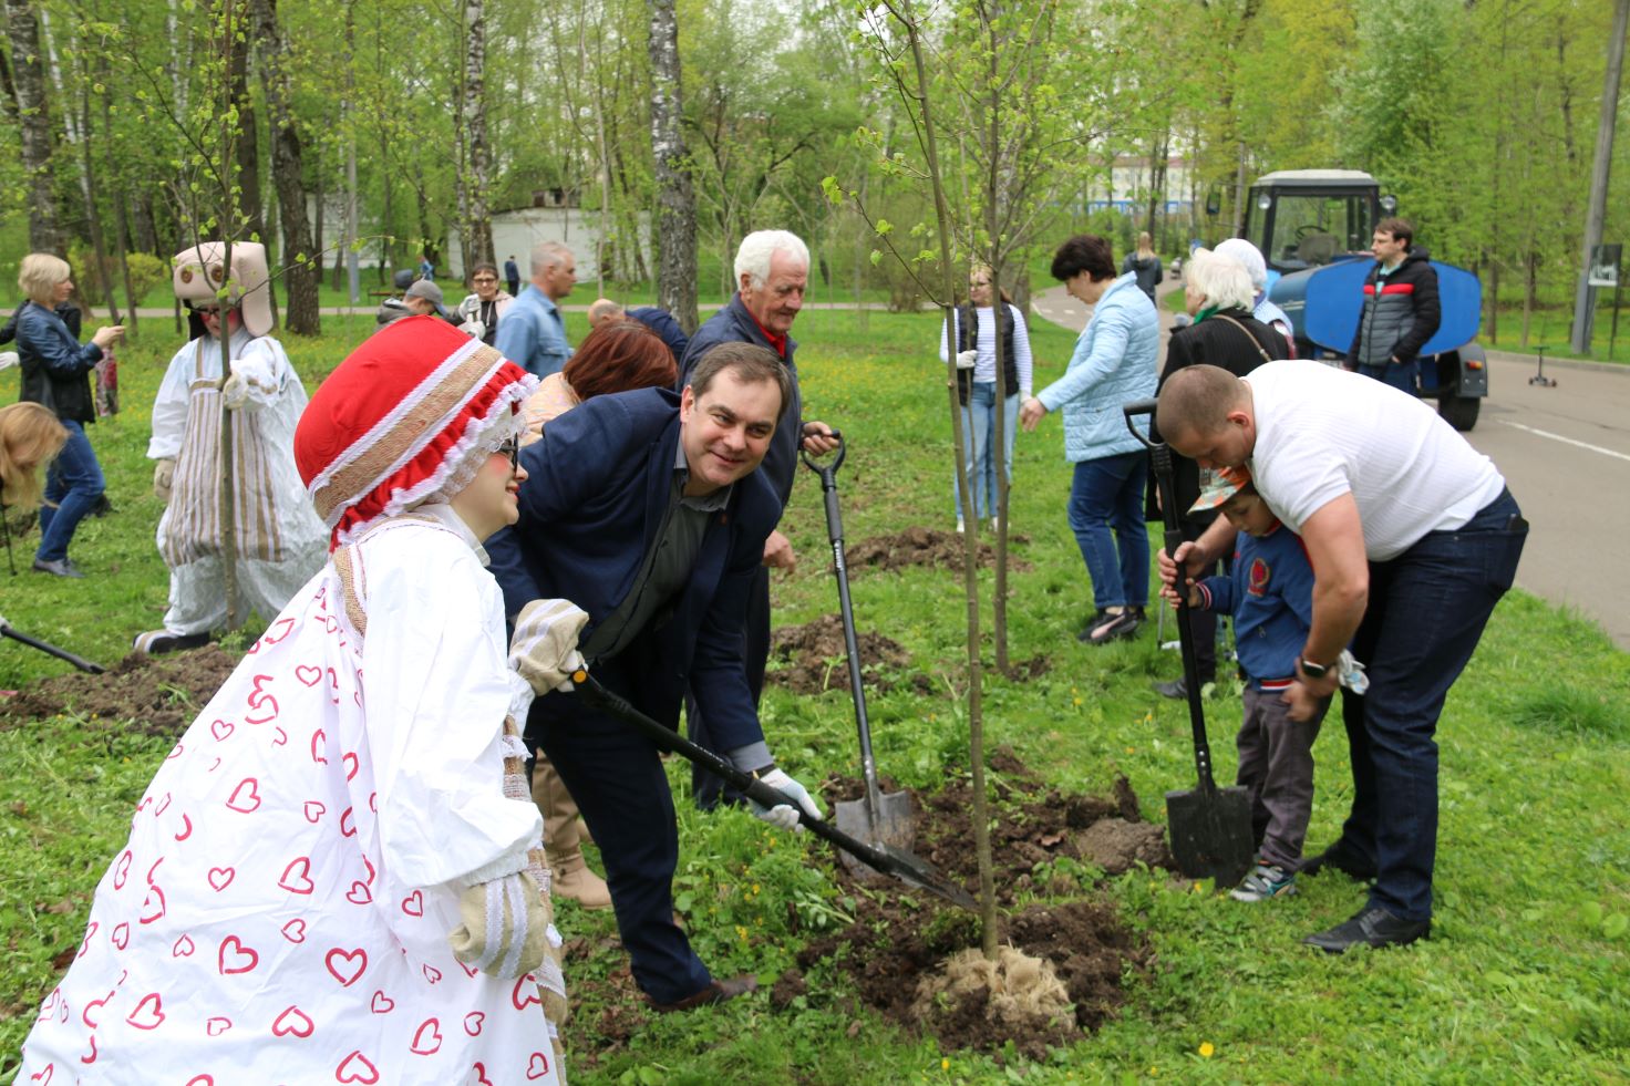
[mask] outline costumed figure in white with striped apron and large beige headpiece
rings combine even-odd
[[[199,331],[170,360],[153,400],[153,492],[165,501],[158,551],[170,566],[163,629],[139,634],[142,652],[205,644],[227,620],[225,527],[220,515],[222,419],[231,422],[231,488],[241,615],[279,613],[323,567],[328,532],[311,512],[292,442],[306,406],[305,386],[271,338],[266,246],[238,241],[231,269],[220,241],[171,258],[176,297]],[[227,297],[220,298],[218,290]],[[220,338],[231,344],[231,375],[220,380]]]

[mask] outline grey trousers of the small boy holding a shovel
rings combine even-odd
[[[1330,700],[1319,704],[1314,719],[1302,722],[1291,719],[1283,690],[1250,685],[1244,701],[1245,719],[1236,739],[1236,783],[1250,792],[1250,828],[1262,846],[1262,863],[1294,874],[1314,814],[1314,740]]]

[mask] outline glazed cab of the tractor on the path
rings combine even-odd
[[[1397,201],[1363,170],[1276,170],[1250,186],[1245,236],[1281,276],[1369,254]]]

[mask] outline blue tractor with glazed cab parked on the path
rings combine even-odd
[[[1268,261],[1268,297],[1291,318],[1297,357],[1340,359],[1364,307],[1369,238],[1397,201],[1361,170],[1280,170],[1263,174],[1250,196],[1245,236]],[[1421,347],[1415,386],[1454,429],[1469,430],[1488,395],[1487,359],[1474,342],[1483,290],[1464,267],[1431,266],[1443,323]]]

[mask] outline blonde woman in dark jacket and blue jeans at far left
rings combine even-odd
[[[91,342],[80,346],[57,315],[57,307],[73,294],[73,279],[67,261],[49,253],[24,256],[16,285],[28,295],[16,318],[16,352],[23,369],[20,400],[44,404],[68,432],[46,476],[34,569],[57,577],[83,577],[68,559],[68,541],[104,488],[101,465],[85,437],[85,426],[96,421],[90,373],[103,351],[124,336],[124,326],[99,328]]]

